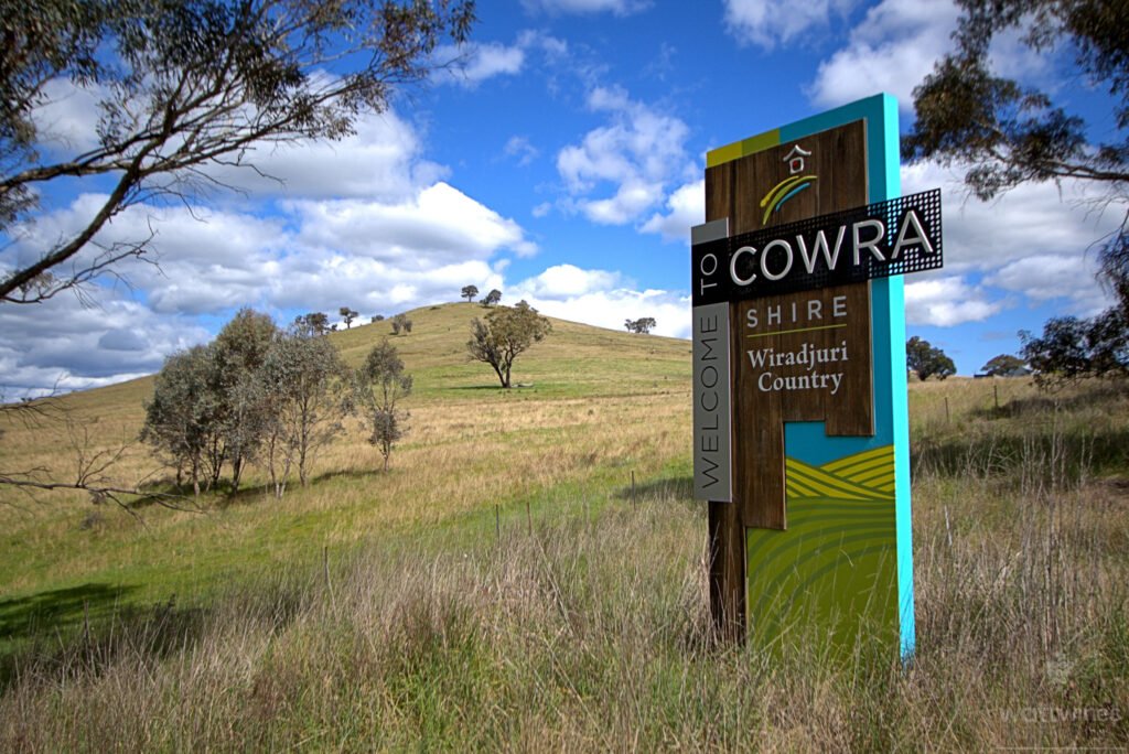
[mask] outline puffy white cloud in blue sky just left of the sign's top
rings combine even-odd
[[[571,205],[589,220],[624,225],[659,204],[671,179],[695,173],[685,150],[690,129],[681,120],[630,99],[619,88],[597,87],[588,107],[610,123],[589,131],[579,144],[557,155]],[[611,184],[611,195],[604,193]]]

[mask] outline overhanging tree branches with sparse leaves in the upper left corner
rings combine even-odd
[[[11,257],[0,300],[42,301],[145,255],[151,234],[98,239],[128,207],[191,203],[254,169],[256,150],[349,135],[448,64],[440,44],[465,42],[473,21],[473,0],[5,3],[0,231],[20,235],[52,185],[108,184],[73,230]],[[97,100],[93,143],[42,149],[44,108],[76,94]]]

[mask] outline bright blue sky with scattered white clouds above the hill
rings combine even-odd
[[[105,279],[82,300],[0,307],[5,397],[150,374],[240,306],[280,324],[341,306],[367,321],[457,300],[465,284],[612,328],[651,316],[686,337],[706,151],[878,91],[899,99],[904,130],[956,18],[942,0],[480,0],[478,12],[463,71],[402,93],[340,142],[262,150],[281,182],[224,175],[243,191],[115,218],[104,237],[151,228],[159,268],[125,265],[128,286]],[[1007,40],[994,60],[1079,112],[1103,102]],[[37,122],[43,149],[64,152],[94,138],[96,112],[90,93],[54,87]],[[1095,133],[1113,128],[1093,113]],[[983,204],[960,175],[902,170],[904,193],[945,192],[946,266],[907,279],[907,317],[973,374],[1015,352],[1018,330],[1105,306],[1091,244],[1119,218],[1069,183]],[[34,226],[10,230],[0,266],[76,227],[100,191],[53,190]]]

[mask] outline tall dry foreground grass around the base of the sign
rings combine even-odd
[[[825,663],[808,635],[771,657],[716,642],[702,510],[665,483],[43,640],[8,675],[0,748],[1123,748],[1129,516],[1065,423],[986,430],[957,472],[919,459],[904,667]]]

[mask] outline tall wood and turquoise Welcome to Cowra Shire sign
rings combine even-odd
[[[694,493],[729,634],[913,647],[901,274],[939,191],[898,196],[879,95],[714,150],[692,231]]]

